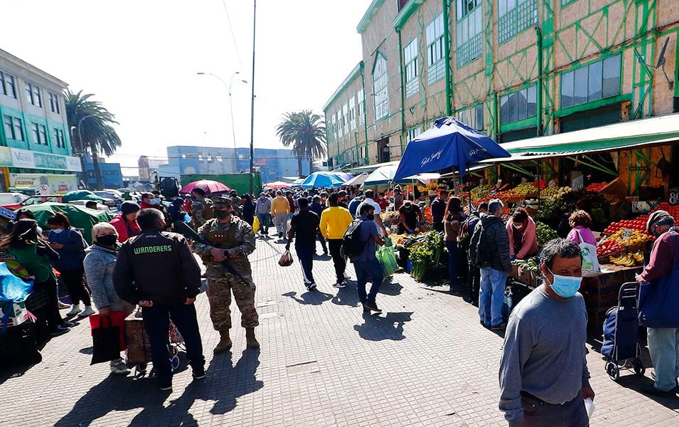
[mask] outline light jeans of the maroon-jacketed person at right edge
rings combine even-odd
[[[656,371],[656,389],[673,389],[679,376],[679,328],[649,327],[648,352]]]

